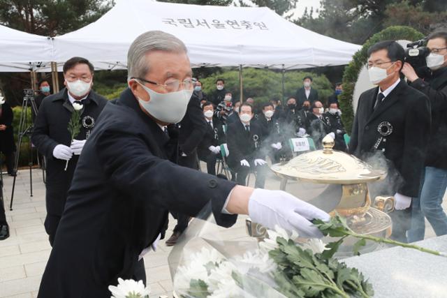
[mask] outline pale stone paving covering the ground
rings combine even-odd
[[[202,164],[204,167],[204,164]],[[50,255],[50,244],[43,228],[45,219],[45,185],[42,171],[33,170],[33,196],[30,197],[29,171],[21,170],[17,175],[13,211],[6,211],[10,226],[10,237],[0,241],[0,298],[31,298],[37,296],[47,258]],[[13,177],[3,176],[5,185],[3,194],[9,206]],[[250,185],[253,186],[251,177]],[[288,189],[295,187],[288,185]],[[268,177],[265,188],[279,189],[279,180]],[[292,191],[293,192],[293,191]],[[447,202],[444,200],[444,207]],[[174,228],[175,221],[170,218],[168,237]],[[235,227],[226,230],[226,239],[242,239],[246,236],[244,216],[240,216]],[[427,223],[426,238],[434,237],[434,232]],[[147,281],[152,297],[167,295],[172,297],[172,283],[168,268],[168,254],[172,248],[159,243],[157,251],[145,255]]]

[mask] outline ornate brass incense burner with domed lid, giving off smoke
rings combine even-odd
[[[290,193],[302,198],[316,207],[334,215],[346,217],[349,227],[360,234],[374,234],[378,237],[388,237],[391,234],[391,218],[388,212],[394,209],[392,197],[369,197],[367,183],[379,181],[386,177],[386,172],[373,170],[370,165],[342,151],[332,150],[334,140],[326,136],[323,139],[323,149],[310,151],[296,156],[286,164],[272,165],[271,169],[281,178],[281,190],[295,182],[295,190]],[[301,187],[302,193],[298,193]],[[312,193],[311,188],[321,188],[323,192],[314,198],[303,198]],[[247,220],[247,232],[252,237],[265,237],[265,229]],[[332,241],[332,240],[330,240]],[[349,241],[345,241],[349,246]],[[346,255],[349,255],[349,247]],[[375,248],[367,246],[363,252]],[[339,252],[343,254],[343,249]]]

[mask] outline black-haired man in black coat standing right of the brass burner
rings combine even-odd
[[[427,96],[400,79],[402,46],[382,41],[369,48],[368,57],[369,80],[379,86],[360,95],[349,152],[373,164],[377,156],[386,158],[388,178],[372,184],[372,198],[395,195],[391,237],[406,241],[430,135],[430,104]]]

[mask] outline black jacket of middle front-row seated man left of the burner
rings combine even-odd
[[[263,128],[256,121],[250,121],[249,133],[245,131],[241,121],[228,125],[228,165],[236,167],[243,159],[253,161],[256,158],[265,158],[263,137]]]

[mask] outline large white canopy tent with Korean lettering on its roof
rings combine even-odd
[[[85,57],[97,69],[126,68],[141,33],[173,33],[188,47],[191,64],[308,68],[348,64],[359,45],[314,33],[268,8],[196,6],[147,0],[119,1],[94,23],[54,38],[54,61]]]

